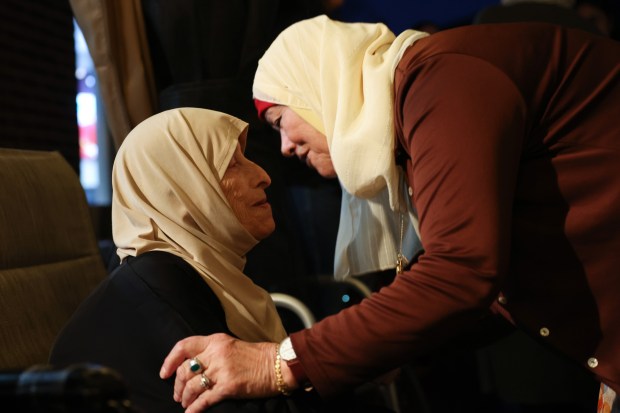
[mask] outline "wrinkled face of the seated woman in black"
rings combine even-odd
[[[270,184],[267,172],[246,158],[237,144],[220,185],[241,225],[258,240],[276,228],[265,194]]]

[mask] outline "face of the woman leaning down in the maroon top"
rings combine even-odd
[[[276,105],[265,111],[265,120],[278,132],[286,157],[297,156],[325,178],[335,178],[327,138],[288,106]]]

